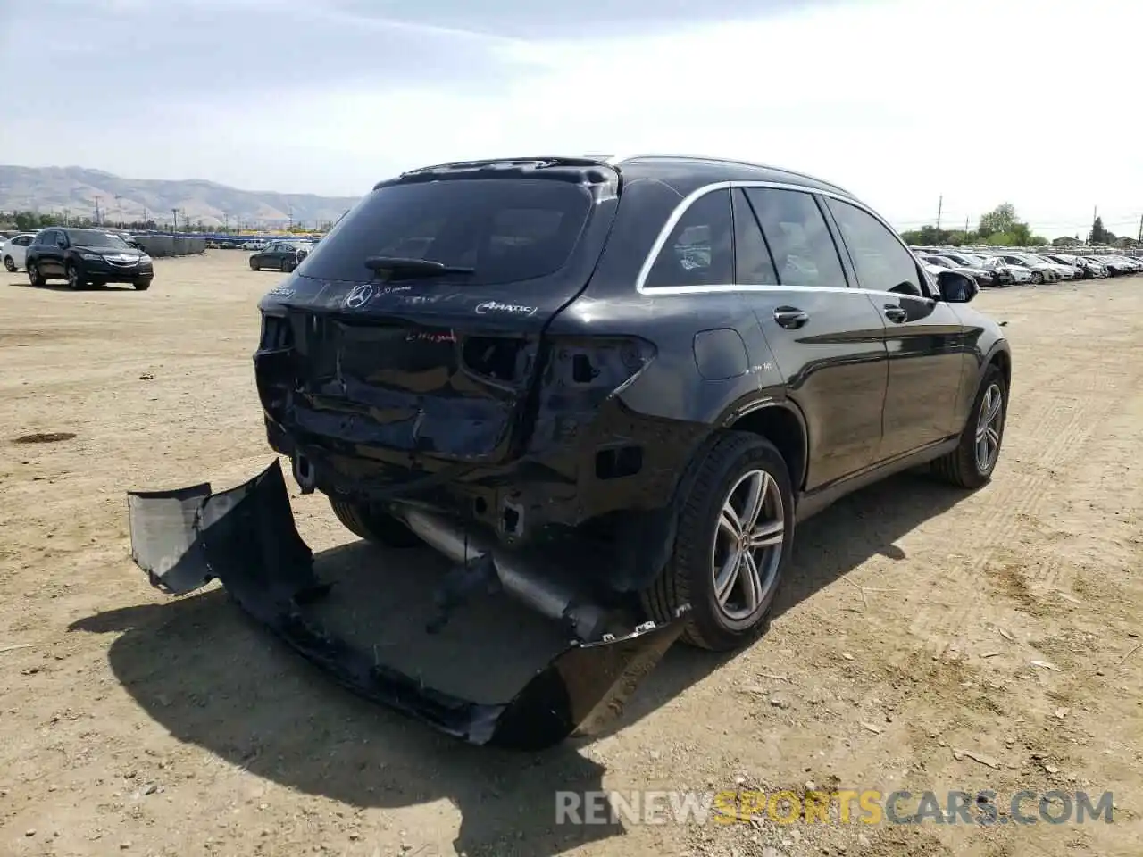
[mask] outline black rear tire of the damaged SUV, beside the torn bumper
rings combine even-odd
[[[765,542],[750,553],[751,566],[740,561],[732,569],[730,558],[742,555],[735,532],[748,516],[743,513],[752,489],[762,499],[754,520],[765,518],[769,524],[757,530]],[[737,530],[724,515],[727,505],[736,512]],[[671,559],[640,595],[645,612],[655,622],[670,622],[680,607],[689,604],[682,632],[686,642],[714,651],[742,648],[769,626],[793,531],[793,489],[781,452],[757,434],[722,432],[697,463],[694,483],[679,512]],[[750,578],[742,575],[748,568],[754,570]],[[724,575],[728,587],[720,599],[717,578]],[[753,598],[743,585],[745,579],[754,580]]]

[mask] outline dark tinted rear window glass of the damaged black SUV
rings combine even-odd
[[[368,280],[370,256],[473,269],[434,278],[479,286],[531,280],[567,263],[591,193],[553,179],[446,179],[371,192],[298,269],[306,277]]]

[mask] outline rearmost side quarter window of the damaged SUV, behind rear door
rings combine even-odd
[[[730,192],[695,200],[674,225],[647,275],[647,288],[727,286],[734,282]]]

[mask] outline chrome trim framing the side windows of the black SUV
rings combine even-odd
[[[652,297],[655,295],[705,295],[720,291],[816,291],[816,293],[860,293],[865,295],[890,295],[896,298],[901,297],[918,297],[917,295],[903,295],[900,291],[882,291],[880,289],[863,289],[855,286],[745,286],[738,283],[710,283],[705,286],[647,286],[647,278],[650,275],[650,270],[655,266],[655,262],[658,259],[660,253],[662,253],[663,247],[666,246],[668,239],[674,231],[674,227],[682,219],[682,216],[696,201],[705,197],[708,193],[714,193],[717,191],[729,191],[736,187],[751,189],[760,187],[775,191],[794,191],[797,193],[808,193],[809,195],[821,195],[830,197],[839,202],[847,202],[854,208],[858,208],[865,214],[870,215],[874,221],[880,223],[885,229],[889,231],[901,248],[909,254],[909,257],[916,262],[916,254],[909,249],[909,246],[901,239],[897,231],[890,226],[884,217],[881,217],[877,211],[871,209],[864,202],[858,202],[853,197],[847,197],[844,193],[836,193],[833,191],[824,191],[817,187],[806,187],[800,184],[789,184],[786,182],[761,182],[761,181],[750,181],[750,179],[732,179],[727,182],[712,182],[705,184],[702,187],[697,187],[686,197],[674,207],[670,216],[666,218],[666,223],[660,230],[658,235],[655,238],[655,242],[650,247],[650,251],[644,259],[642,265],[639,269],[639,275],[636,278],[636,291],[640,295]],[[832,238],[832,233],[831,233]],[[838,248],[841,249],[841,248]],[[925,282],[926,286],[932,288],[932,282],[925,270],[918,264],[917,275],[920,280]],[[932,295],[920,295],[922,301],[934,301]]]

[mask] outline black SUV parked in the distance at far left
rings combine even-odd
[[[66,280],[72,289],[130,283],[138,291],[151,288],[151,257],[127,241],[102,230],[54,226],[35,235],[24,262],[32,286]]]

